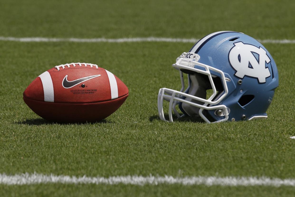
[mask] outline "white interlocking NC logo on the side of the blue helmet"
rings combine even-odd
[[[265,83],[266,78],[271,76],[269,69],[265,67],[265,63],[268,64],[271,61],[266,51],[261,47],[242,42],[234,43],[234,45],[228,57],[230,64],[237,71],[235,76],[244,78],[247,75],[257,78],[259,83]],[[258,55],[258,58],[254,56],[254,53]]]

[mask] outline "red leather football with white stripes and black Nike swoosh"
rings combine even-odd
[[[24,91],[24,102],[54,122],[96,122],[127,99],[127,86],[96,64],[71,63],[40,74]]]

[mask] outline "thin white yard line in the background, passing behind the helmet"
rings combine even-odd
[[[15,42],[76,42],[76,43],[125,43],[125,42],[170,42],[170,43],[196,43],[199,39],[191,38],[15,38],[0,37],[2,41]],[[261,43],[295,44],[295,40],[258,40]]]

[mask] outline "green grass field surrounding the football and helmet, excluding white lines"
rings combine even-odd
[[[4,1],[0,37],[202,38],[233,30],[260,40],[295,39],[294,1]],[[161,87],[180,89],[171,64],[193,43],[0,40],[0,173],[295,178],[295,45],[264,46],[280,84],[268,119],[205,124],[160,121]],[[97,64],[129,97],[99,123],[57,124],[22,99],[42,72]],[[0,185],[0,196],[294,196],[295,187],[206,185]]]

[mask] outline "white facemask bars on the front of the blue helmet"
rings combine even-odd
[[[222,120],[219,120],[219,121],[215,121],[214,123],[227,121],[228,114],[229,114],[229,109],[225,105],[207,106],[208,104],[216,105],[217,103],[219,103],[227,95],[228,89],[227,89],[227,84],[226,84],[226,81],[225,81],[224,73],[221,70],[216,69],[216,68],[214,68],[212,66],[208,66],[208,65],[201,64],[201,63],[197,62],[199,60],[199,55],[198,54],[188,53],[188,55],[193,54],[193,56],[188,56],[186,54],[187,53],[183,53],[180,57],[178,57],[176,59],[176,64],[172,65],[174,68],[178,69],[179,72],[180,72],[181,90],[176,91],[176,90],[168,89],[168,88],[161,88],[159,90],[159,93],[158,93],[158,113],[159,113],[160,119],[165,121],[164,112],[163,112],[163,100],[167,100],[167,101],[169,101],[169,111],[168,111],[168,113],[169,113],[169,121],[171,121],[171,122],[173,122],[172,110],[177,115],[178,118],[181,117],[181,115],[176,110],[176,105],[179,104],[179,102],[183,102],[183,103],[195,106],[197,108],[200,108],[199,115],[207,123],[211,123],[211,122],[202,113],[203,110],[214,110],[214,109],[222,110],[222,116],[225,116],[225,118],[222,119]],[[186,56],[187,56],[187,58],[185,58]],[[201,69],[194,68],[195,65],[205,68],[205,71],[201,70]],[[182,73],[182,71],[180,69],[191,70],[191,71],[194,71],[194,72],[197,72],[197,73],[207,75],[209,77],[209,81],[210,81],[210,84],[211,84],[212,89],[213,89],[213,94],[210,96],[210,98],[206,100],[206,99],[203,99],[203,98],[200,98],[200,97],[196,97],[196,96],[184,93],[184,92],[187,92],[189,87],[185,91],[183,91],[184,88],[185,88],[185,85],[184,85],[184,80],[183,80],[183,73]],[[215,71],[215,72],[219,73],[222,76],[222,83],[223,83],[223,87],[224,87],[224,92],[223,92],[222,96],[219,97],[215,101],[212,101],[212,99],[216,96],[217,90],[216,90],[216,87],[214,85],[210,70]],[[189,78],[189,75],[188,75],[188,78]],[[194,103],[194,102],[191,102],[191,101],[184,100],[181,97],[188,97],[188,98],[191,98],[193,100],[204,102],[204,104],[200,105],[200,104],[197,104],[197,103]]]

